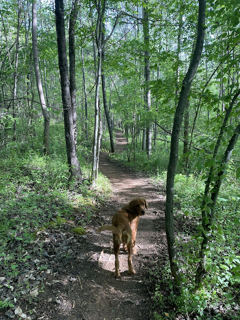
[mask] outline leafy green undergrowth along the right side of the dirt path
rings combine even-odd
[[[126,151],[111,155],[111,159],[149,174],[152,183],[164,188],[168,151],[159,144],[150,157],[140,150],[136,153],[134,161],[133,156],[128,161]],[[199,159],[191,158],[188,170],[184,169],[184,157],[179,159],[174,181],[173,214],[183,283],[175,285],[167,261],[164,265],[149,268],[152,316],[155,320],[240,318],[240,183],[236,179],[235,160],[229,161],[227,175],[222,181],[211,241],[206,251],[206,274],[200,287],[196,288],[195,273],[202,241],[200,204],[205,187],[202,176],[205,172],[204,167],[199,170]]]

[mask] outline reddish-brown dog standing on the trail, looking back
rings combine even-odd
[[[136,253],[134,248],[136,241],[136,230],[139,222],[139,216],[145,214],[148,208],[146,200],[142,197],[133,198],[128,204],[125,204],[121,209],[117,210],[113,215],[112,225],[102,225],[97,229],[100,233],[103,230],[112,231],[113,236],[113,251],[115,255],[115,272],[114,276],[119,278],[119,247],[123,244],[123,249],[128,251],[128,273],[134,274],[135,270],[132,267],[132,253]]]

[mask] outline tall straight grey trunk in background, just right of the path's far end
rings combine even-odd
[[[150,52],[149,52],[149,23],[148,23],[148,7],[147,0],[144,0],[144,6],[142,8],[143,21],[143,35],[144,35],[144,75],[145,75],[145,92],[144,92],[144,102],[147,112],[151,108],[151,92],[149,88],[150,81]],[[151,122],[147,120],[146,122],[146,153],[148,156],[151,155]]]

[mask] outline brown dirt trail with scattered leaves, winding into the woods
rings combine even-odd
[[[125,139],[117,131],[116,152],[124,147]],[[112,196],[95,213],[86,227],[86,234],[83,237],[71,236],[64,230],[58,231],[57,236],[55,231],[44,234],[47,252],[50,251],[49,243],[55,243],[54,258],[49,259],[51,268],[43,280],[40,303],[34,306],[34,312],[29,314],[25,311],[30,309],[30,305],[21,305],[22,311],[31,319],[152,319],[147,270],[156,261],[166,258],[164,195],[150,184],[148,178],[109,162],[107,153],[100,154],[99,170],[109,179]],[[127,253],[120,251],[121,278],[115,279],[111,232],[98,234],[96,229],[101,224],[110,224],[114,212],[135,196],[145,197],[148,202],[148,210],[139,220],[137,253],[132,256],[136,273],[128,275]],[[57,258],[58,250],[65,250],[66,254]],[[67,254],[70,254],[69,258],[66,258]]]

